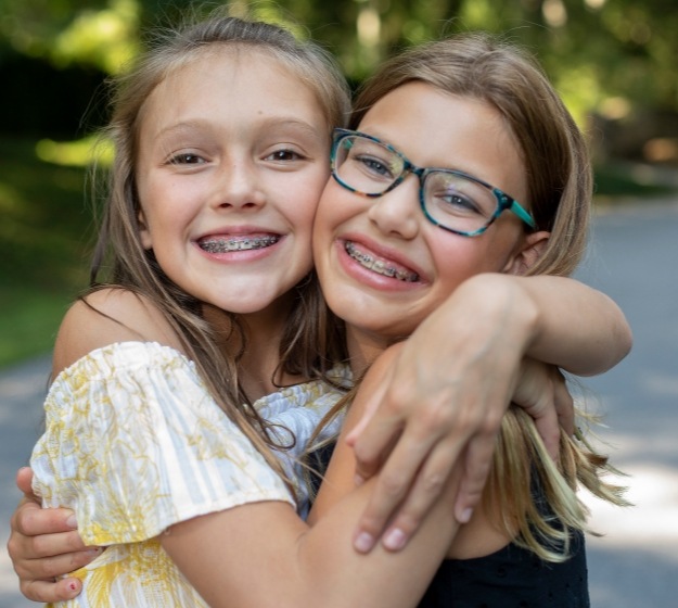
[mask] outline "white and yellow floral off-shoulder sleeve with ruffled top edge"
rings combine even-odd
[[[245,503],[294,499],[184,356],[126,342],[63,371],[46,401],[34,489],[87,544],[139,542]]]

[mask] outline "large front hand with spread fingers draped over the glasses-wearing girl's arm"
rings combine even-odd
[[[369,416],[347,438],[357,480],[380,471],[356,537],[379,539],[391,520],[384,546],[405,546],[462,454],[455,515],[461,523],[469,521],[489,472],[502,416],[523,373],[521,362],[534,338],[535,318],[512,282],[466,281],[404,343],[366,408]],[[555,454],[558,423],[548,398],[524,389],[519,402],[538,419]]]

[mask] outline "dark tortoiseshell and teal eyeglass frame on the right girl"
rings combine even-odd
[[[343,139],[346,139],[347,137],[362,137],[375,143],[379,143],[380,145],[383,145],[384,148],[386,148],[387,150],[396,154],[402,161],[402,173],[383,192],[362,192],[360,190],[357,190],[353,186],[349,186],[344,180],[342,180],[342,178],[338,176],[337,167],[336,167],[336,152],[338,150],[338,145],[341,141]],[[449,169],[449,168],[443,168],[443,167],[419,167],[414,163],[412,163],[405,154],[402,154],[402,152],[400,152],[399,150],[397,150],[389,143],[386,143],[385,141],[382,141],[381,139],[376,137],[364,134],[362,131],[343,129],[338,127],[333,130],[332,151],[330,154],[330,167],[331,167],[332,177],[340,186],[342,186],[346,190],[349,190],[350,192],[354,192],[355,194],[367,197],[369,199],[379,199],[380,197],[383,197],[384,194],[386,194],[387,192],[391,192],[400,183],[402,183],[402,181],[408,176],[408,174],[415,175],[417,177],[419,177],[419,205],[424,216],[426,217],[426,219],[431,221],[431,224],[433,224],[434,226],[437,226],[438,228],[442,228],[443,230],[447,230],[448,232],[459,235],[460,237],[479,237],[483,232],[485,232],[492,225],[492,223],[504,211],[510,211],[513,214],[515,214],[520,219],[522,219],[525,224],[527,224],[527,226],[529,226],[533,230],[537,230],[538,228],[537,223],[534,216],[532,215],[532,213],[529,213],[523,205],[521,205],[521,203],[519,203],[513,197],[507,194],[499,188],[495,188],[491,183],[487,183],[486,181],[483,181],[482,179],[478,179],[477,177],[474,177],[472,175],[469,175],[464,172],[460,172],[457,169]],[[468,232],[464,230],[457,230],[455,228],[449,228],[447,226],[444,226],[443,224],[437,221],[434,217],[432,217],[428,211],[426,210],[426,201],[424,197],[424,182],[425,182],[426,177],[434,172],[456,175],[458,177],[462,177],[464,179],[469,179],[475,183],[478,183],[479,186],[483,186],[484,188],[487,188],[494,194],[495,199],[497,199],[497,208],[495,210],[495,213],[492,213],[492,215],[487,220],[487,224],[485,224],[483,227],[478,228],[477,230]]]

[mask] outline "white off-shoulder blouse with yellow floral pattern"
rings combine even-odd
[[[294,449],[281,452],[290,472],[297,472],[294,459],[309,429],[340,396],[317,381],[255,404],[294,433]],[[30,461],[34,489],[43,506],[76,511],[86,544],[107,545],[73,573],[82,593],[59,606],[206,606],[158,535],[180,521],[245,503],[295,505],[280,477],[209,396],[194,365],[170,347],[125,342],[93,351],[55,379],[44,409],[46,432]],[[300,495],[304,510],[308,496]]]

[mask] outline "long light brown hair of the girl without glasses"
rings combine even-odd
[[[131,71],[113,81],[112,118],[104,136],[114,144],[115,160],[108,173],[91,266],[91,289],[114,287],[150,299],[171,324],[213,397],[282,474],[279,460],[270,454],[274,440],[266,432],[267,422],[251,406],[238,381],[238,363],[246,347],[238,317],[230,315],[228,335],[218,335],[205,319],[202,303],[174,284],[153,252],[142,246],[136,185],[140,123],[144,102],[159,83],[205,53],[221,49],[254,49],[297,76],[302,86],[316,94],[324,112],[328,141],[332,128],[344,124],[348,115],[347,85],[321,48],[264,22],[235,18],[219,11],[202,22],[158,34]],[[305,378],[324,378],[330,367],[346,358],[342,326],[327,309],[314,273],[296,286],[295,293],[280,344],[280,369]],[[236,345],[238,352],[223,354],[218,344],[225,338]]]

